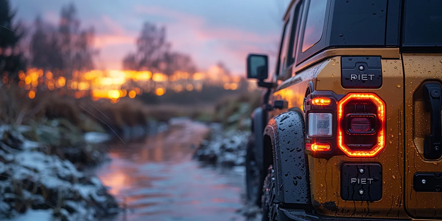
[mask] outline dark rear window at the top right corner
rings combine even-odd
[[[404,45],[442,46],[442,0],[405,0]]]

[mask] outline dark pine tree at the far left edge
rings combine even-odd
[[[20,23],[13,23],[14,17],[9,0],[0,0],[0,74],[8,76],[17,76],[17,72],[25,68],[19,47],[24,31]]]

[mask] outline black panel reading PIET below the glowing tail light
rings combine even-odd
[[[344,163],[341,167],[341,198],[346,201],[381,200],[381,164]]]

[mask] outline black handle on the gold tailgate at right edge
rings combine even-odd
[[[431,113],[430,135],[423,141],[423,156],[428,160],[437,160],[442,155],[441,145],[441,108],[442,88],[439,83],[428,82],[423,85],[425,109]]]

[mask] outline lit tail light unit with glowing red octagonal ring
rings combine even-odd
[[[374,93],[313,91],[304,109],[313,157],[374,157],[385,148],[385,103]]]

